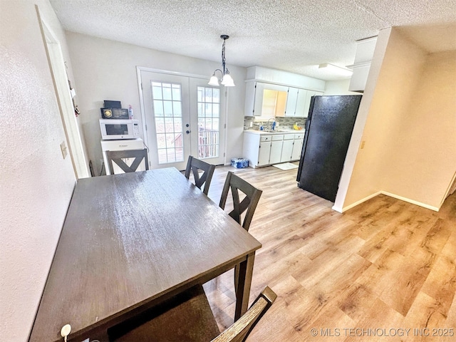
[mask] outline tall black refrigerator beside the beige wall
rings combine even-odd
[[[314,96],[299,161],[298,186],[336,200],[362,95]]]

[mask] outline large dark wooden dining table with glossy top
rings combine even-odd
[[[107,330],[239,264],[237,320],[261,244],[175,168],[78,180],[29,341]]]

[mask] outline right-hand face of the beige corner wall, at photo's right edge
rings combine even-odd
[[[395,121],[383,190],[440,208],[456,171],[456,51],[426,56]]]

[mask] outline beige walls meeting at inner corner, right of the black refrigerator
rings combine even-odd
[[[364,148],[357,151],[345,209],[378,192],[440,207],[456,170],[455,63],[452,53],[427,56],[391,30],[378,81],[365,94],[372,100]]]

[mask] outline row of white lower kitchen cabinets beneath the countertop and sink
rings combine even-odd
[[[242,157],[249,160],[250,167],[261,167],[299,160],[304,133],[259,133],[244,132]]]

